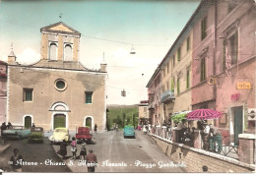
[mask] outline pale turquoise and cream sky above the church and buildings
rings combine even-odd
[[[0,60],[7,61],[13,43],[18,62],[36,62],[40,29],[61,20],[82,33],[79,60],[83,65],[99,69],[104,53],[107,104],[138,104],[148,99],[148,82],[199,3],[0,0]],[[136,54],[130,54],[132,47]]]

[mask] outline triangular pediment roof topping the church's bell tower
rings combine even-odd
[[[81,33],[78,30],[69,27],[68,25],[66,25],[63,22],[59,22],[59,23],[56,23],[53,25],[49,25],[47,27],[43,27],[40,29],[40,31],[81,36]]]

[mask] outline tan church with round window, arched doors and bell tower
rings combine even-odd
[[[79,61],[81,33],[60,22],[40,29],[41,59],[23,65],[8,57],[7,122],[52,130],[105,129],[106,64],[90,70]]]

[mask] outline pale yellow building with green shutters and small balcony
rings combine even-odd
[[[167,122],[173,113],[191,110],[191,62],[193,32],[190,26],[180,32],[160,63],[163,115]]]

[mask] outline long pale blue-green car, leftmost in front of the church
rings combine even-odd
[[[31,129],[26,129],[24,126],[12,126],[11,128],[3,131],[3,137],[18,139],[28,138],[31,134]]]

